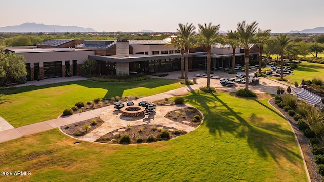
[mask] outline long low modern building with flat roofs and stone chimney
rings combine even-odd
[[[168,45],[171,38],[163,40],[65,40],[52,39],[37,47],[7,47],[7,51],[26,58],[27,79],[65,77],[80,75],[80,65],[86,59],[94,59],[98,66],[96,74],[128,75],[136,73],[162,73],[181,69],[181,53]],[[235,63],[244,65],[244,50],[236,48]],[[233,50],[229,46],[215,45],[211,50],[211,67],[216,71],[231,67]],[[193,48],[189,69],[206,70],[206,49]],[[251,59],[258,59],[259,49],[250,47]]]

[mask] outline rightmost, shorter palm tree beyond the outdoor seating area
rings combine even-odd
[[[287,35],[282,35],[280,34],[280,36],[277,35],[277,38],[275,40],[275,50],[279,51],[280,56],[281,56],[281,63],[280,63],[280,79],[284,79],[284,53],[286,51],[290,51],[290,49],[292,48],[292,42],[293,40],[291,40],[289,37],[287,37]]]

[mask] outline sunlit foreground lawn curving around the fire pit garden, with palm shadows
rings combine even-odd
[[[169,141],[104,145],[52,129],[0,143],[6,181],[307,181],[294,134],[271,96],[185,96],[204,114],[193,132]]]

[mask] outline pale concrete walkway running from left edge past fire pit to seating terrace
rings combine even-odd
[[[188,77],[190,80],[193,79],[195,74],[201,74],[203,71],[195,71],[195,72],[188,72]],[[180,71],[176,72],[169,72],[169,76],[164,77],[164,78],[170,78],[170,79],[178,79],[178,77],[181,75]],[[239,74],[239,73],[238,73]],[[250,73],[250,74],[253,74]],[[233,78],[235,75],[228,74],[227,72],[223,71],[217,71],[215,76],[220,76],[222,78]],[[152,76],[154,77],[154,76]],[[160,77],[157,77],[160,78]],[[58,83],[58,82],[66,82],[66,81],[77,81],[77,80],[85,80],[86,78],[84,77],[78,77],[78,76],[73,76],[73,77],[65,77],[65,78],[51,78],[51,79],[46,79],[46,80],[41,80],[41,81],[30,81],[27,83],[27,85],[45,85],[45,84],[52,84],[52,83]],[[160,93],[148,97],[141,98],[140,100],[146,100],[146,101],[157,101],[161,100],[164,98],[169,98],[173,96],[179,96],[183,95],[185,93],[191,92],[193,90],[199,89],[201,86],[206,86],[206,78],[199,78],[197,77],[197,84],[194,85],[189,85],[185,87],[181,87],[178,89],[170,90],[165,93]],[[222,86],[219,82],[219,80],[216,79],[211,79],[210,85],[212,87],[215,87],[217,90],[224,90],[228,92],[236,92],[236,90],[240,88],[245,88],[244,84],[235,84],[233,87],[226,87]],[[256,93],[271,93],[271,94],[276,94],[276,87],[277,86],[285,86],[285,84],[282,84],[278,81],[274,81],[271,79],[267,78],[260,78],[260,84],[256,86],[249,86],[249,89],[253,90]],[[136,102],[136,101],[135,101]],[[86,111],[80,114],[73,114],[68,117],[60,117],[57,119],[52,119],[48,121],[43,121],[35,124],[30,124],[18,128],[13,128],[8,122],[6,122],[4,119],[0,119],[0,142],[12,140],[19,138],[24,135],[29,135],[29,134],[34,134],[38,133],[41,131],[46,131],[52,128],[72,124],[75,122],[87,120],[87,119],[92,119],[95,117],[100,116],[102,113],[104,113],[106,110],[110,110],[113,106],[107,106],[103,108],[98,108],[95,110],[91,111]],[[3,127],[1,127],[3,126]]]

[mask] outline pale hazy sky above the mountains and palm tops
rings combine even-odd
[[[0,27],[23,23],[79,26],[98,32],[176,32],[179,23],[220,24],[256,21],[272,33],[324,27],[323,0],[10,0],[1,3]]]

